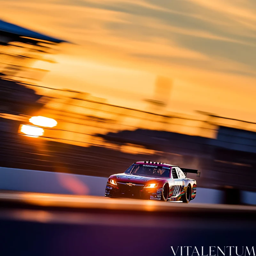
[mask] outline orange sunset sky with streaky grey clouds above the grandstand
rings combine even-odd
[[[0,0],[0,19],[58,37],[41,85],[146,109],[157,76],[167,109],[256,122],[255,0]],[[164,92],[163,92],[164,94]]]

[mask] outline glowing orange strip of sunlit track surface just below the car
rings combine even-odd
[[[26,204],[42,207],[65,207],[79,209],[107,209],[146,212],[180,212],[186,211],[221,211],[221,212],[255,212],[256,206],[223,204],[182,204],[153,200],[120,199],[102,196],[76,196],[20,191],[1,191],[0,202]]]

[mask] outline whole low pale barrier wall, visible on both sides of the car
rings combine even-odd
[[[61,172],[0,167],[0,189],[70,195],[104,196],[108,178]],[[221,204],[223,191],[197,188],[191,203]],[[244,203],[256,204],[256,193],[242,192]]]

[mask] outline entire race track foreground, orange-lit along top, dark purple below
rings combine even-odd
[[[247,205],[2,191],[0,255],[174,255],[171,246],[252,247],[255,217],[256,207]]]

